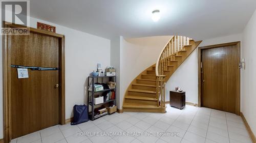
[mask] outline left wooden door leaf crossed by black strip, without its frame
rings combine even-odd
[[[11,65],[59,68],[59,39],[30,33],[10,36]],[[28,69],[29,78],[11,68],[11,138],[60,123],[59,70]]]

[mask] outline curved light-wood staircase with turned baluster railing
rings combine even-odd
[[[175,38],[175,36],[173,38]],[[173,38],[167,45],[170,45],[172,41],[174,41]],[[174,41],[173,45],[176,44],[176,48],[178,48],[178,40],[176,42],[177,43]],[[202,41],[195,42],[194,40],[188,40],[188,44],[183,44],[184,46],[182,45],[183,48],[180,48],[180,50],[176,50],[175,52],[174,49],[173,53],[172,49],[171,51],[168,50],[171,54],[166,54],[166,56],[159,61],[160,63],[158,62],[159,65],[161,65],[161,63],[163,63],[163,65],[165,64],[164,68],[161,66],[160,68],[162,68],[162,70],[159,70],[160,73],[161,71],[163,72],[162,75],[165,75],[165,82],[168,81],[170,76],[172,76],[201,42]],[[164,52],[163,50],[163,53],[167,53],[167,51]],[[160,105],[159,96],[157,94],[157,91],[159,93],[159,90],[157,90],[157,82],[156,64],[154,64],[141,72],[127,88],[123,99],[123,111],[166,112],[165,106]]]

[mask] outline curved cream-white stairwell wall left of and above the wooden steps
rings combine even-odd
[[[143,70],[157,62],[158,56],[172,36],[155,36],[121,40],[120,105],[127,87]]]

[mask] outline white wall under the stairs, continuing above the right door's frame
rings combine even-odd
[[[201,39],[198,39],[201,40]],[[242,34],[205,39],[199,45],[215,45],[242,40]],[[175,71],[166,83],[166,101],[169,101],[169,91],[179,87],[186,92],[186,102],[198,103],[198,48],[190,54],[183,64]]]

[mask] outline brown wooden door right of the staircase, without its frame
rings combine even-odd
[[[236,113],[239,50],[227,45],[202,50],[202,106]]]

